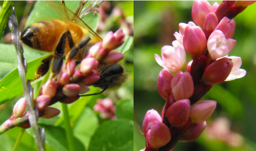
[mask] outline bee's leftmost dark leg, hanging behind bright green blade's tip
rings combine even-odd
[[[41,76],[44,76],[50,68],[52,59],[53,59],[53,55],[50,55],[50,56],[46,57],[45,59],[43,59],[41,61],[42,64],[37,69],[36,77],[34,79],[29,79],[29,81],[34,81],[36,79],[39,79]]]

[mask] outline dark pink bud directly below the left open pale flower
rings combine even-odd
[[[173,75],[166,69],[162,69],[157,79],[157,89],[163,99],[167,100],[171,95],[171,79]]]

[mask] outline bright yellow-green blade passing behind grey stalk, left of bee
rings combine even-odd
[[[35,77],[35,71],[37,71],[37,68],[41,65],[41,60],[47,56],[48,55],[42,56],[28,62],[27,79],[33,79]],[[16,68],[0,81],[0,104],[18,95],[21,91],[23,91],[22,82],[18,68]]]

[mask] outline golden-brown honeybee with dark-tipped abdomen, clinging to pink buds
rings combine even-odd
[[[93,44],[102,41],[96,32],[64,5],[57,1],[45,2],[62,17],[61,20],[31,24],[20,36],[20,40],[31,48],[53,52],[53,55],[42,60],[35,79],[44,76],[50,66],[54,78],[61,71],[64,58],[66,63],[71,59],[81,61]],[[94,86],[103,88],[103,91],[119,87],[126,79],[125,70],[119,64],[100,64],[98,71],[101,79]]]

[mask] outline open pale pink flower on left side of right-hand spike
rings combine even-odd
[[[176,47],[163,46],[161,49],[162,58],[156,54],[154,56],[160,66],[174,73],[186,68],[186,52],[181,44],[176,45]]]

